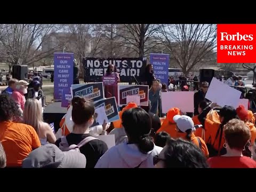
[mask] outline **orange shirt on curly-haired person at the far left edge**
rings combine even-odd
[[[23,159],[41,146],[33,127],[22,123],[0,122],[0,141],[6,153],[6,167],[21,166]]]

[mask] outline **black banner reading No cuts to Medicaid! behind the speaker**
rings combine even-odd
[[[121,82],[136,82],[133,75],[141,82],[147,61],[142,58],[84,58],[84,82],[102,82],[109,64],[116,66]]]

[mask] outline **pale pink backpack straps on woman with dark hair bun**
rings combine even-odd
[[[94,137],[86,137],[84,138],[81,142],[79,142],[77,145],[73,144],[73,145],[70,145],[68,144],[68,141],[67,141],[67,138],[66,136],[62,136],[61,138],[61,142],[60,142],[60,145],[59,145],[59,149],[61,151],[69,151],[69,150],[74,150],[74,151],[80,151],[79,148],[81,148],[82,146],[84,146],[86,143],[89,143],[90,141],[92,140],[95,140],[97,138],[94,138]],[[99,140],[99,139],[98,139]]]

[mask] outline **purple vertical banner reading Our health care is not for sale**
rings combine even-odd
[[[54,99],[62,99],[62,90],[73,84],[74,53],[54,53]]]

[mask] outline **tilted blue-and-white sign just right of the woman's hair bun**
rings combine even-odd
[[[106,115],[108,117],[108,122],[114,122],[119,119],[117,104],[116,104],[116,98],[108,98],[108,99],[102,99],[100,101],[94,102],[94,108],[97,110],[100,107],[104,107],[106,110]],[[91,127],[99,125],[98,122],[94,121]]]

